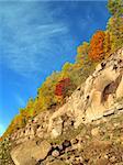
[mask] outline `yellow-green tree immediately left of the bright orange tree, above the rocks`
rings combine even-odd
[[[70,79],[78,87],[94,69],[94,63],[88,56],[90,44],[83,42],[77,47],[76,63],[72,65]]]

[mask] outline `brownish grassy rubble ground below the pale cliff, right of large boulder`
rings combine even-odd
[[[48,156],[40,165],[122,165],[123,113],[82,124],[76,135],[53,140]]]

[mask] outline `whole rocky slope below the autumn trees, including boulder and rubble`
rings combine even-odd
[[[102,151],[103,156],[100,155],[102,162],[99,161],[101,165],[101,163],[111,163],[107,155],[110,148],[114,153],[112,155],[114,162],[122,164],[122,112],[123,48],[99,64],[94,73],[57,111],[42,112],[33,122],[29,121],[24,129],[14,132],[10,138],[11,157],[15,165],[27,163],[48,165],[55,162],[56,164],[76,164],[77,157],[81,164],[92,164],[89,157],[96,156],[94,161],[99,161],[97,156]],[[113,118],[118,120],[112,120]],[[118,134],[113,132],[115,129],[119,130],[119,146],[114,145],[118,139]],[[91,152],[93,148],[97,152],[90,153],[89,146]],[[85,152],[88,152],[87,157]],[[67,162],[67,160],[70,161]],[[98,162],[93,162],[94,164]]]

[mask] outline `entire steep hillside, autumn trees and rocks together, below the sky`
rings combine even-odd
[[[0,138],[0,165],[123,165],[123,1]]]

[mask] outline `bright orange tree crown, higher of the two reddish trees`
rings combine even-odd
[[[104,43],[105,33],[103,31],[97,31],[90,41],[89,57],[98,62],[104,57]]]

